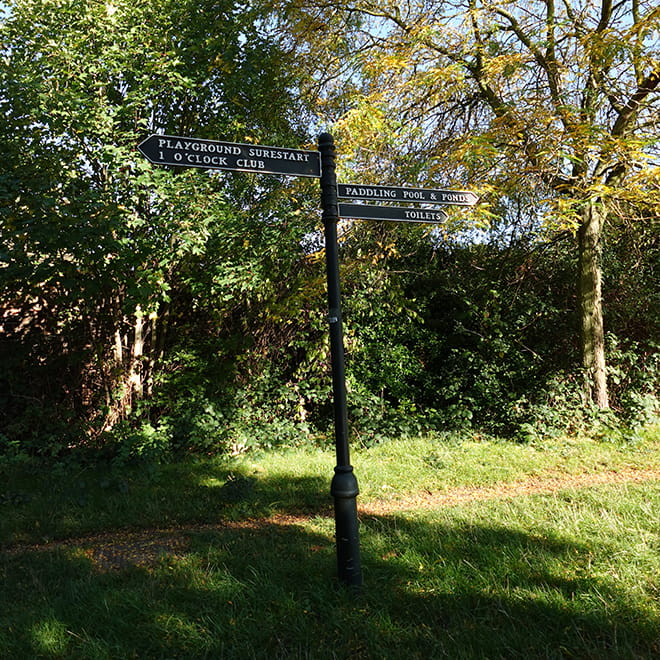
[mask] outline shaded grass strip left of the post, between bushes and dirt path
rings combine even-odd
[[[328,512],[327,479],[285,481],[222,462],[186,461],[64,474],[0,474],[0,551],[115,529],[221,523],[277,512]],[[26,522],[28,524],[26,524]]]

